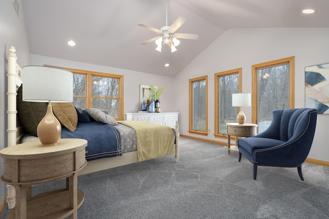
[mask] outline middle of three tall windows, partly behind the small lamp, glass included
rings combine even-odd
[[[236,122],[239,107],[232,106],[232,94],[242,91],[242,68],[215,74],[215,131],[216,138],[227,138],[226,123]]]

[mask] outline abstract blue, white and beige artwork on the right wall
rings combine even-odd
[[[329,63],[305,67],[305,107],[329,114]]]

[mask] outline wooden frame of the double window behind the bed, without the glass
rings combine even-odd
[[[71,71],[73,74],[79,74],[79,75],[85,75],[86,76],[86,108],[92,108],[93,107],[93,96],[92,96],[92,76],[99,76],[99,77],[107,77],[107,78],[115,78],[118,79],[119,82],[119,117],[114,118],[115,120],[124,120],[124,109],[123,109],[123,76],[122,75],[114,75],[114,74],[108,74],[103,72],[97,72],[97,71],[88,71],[88,70],[80,70],[80,69],[74,69],[74,68],[65,68],[65,67],[58,67],[58,66],[50,66],[50,65],[44,65],[47,67],[53,67],[53,68],[60,68],[64,70]],[[74,97],[83,97],[83,96],[74,96]]]

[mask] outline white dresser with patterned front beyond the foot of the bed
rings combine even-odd
[[[146,121],[175,128],[178,113],[126,113],[126,120]]]

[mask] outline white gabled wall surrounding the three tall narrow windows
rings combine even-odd
[[[295,107],[305,107],[304,67],[329,63],[329,28],[230,29],[199,54],[176,76],[175,110],[180,109],[179,132],[188,133],[188,80],[208,75],[208,139],[214,131],[214,74],[242,67],[242,92],[251,93],[251,66],[295,56]],[[251,122],[251,107],[244,107],[246,122]],[[329,161],[326,143],[329,115],[318,115],[317,128],[308,158]]]

